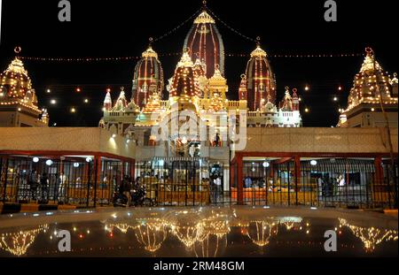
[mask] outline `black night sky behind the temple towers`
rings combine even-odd
[[[125,57],[139,56],[150,36],[160,36],[200,9],[201,1],[94,1],[71,0],[72,22],[58,20],[59,0],[3,0],[0,68],[11,62],[13,48],[26,57]],[[261,36],[270,55],[363,53],[371,46],[383,68],[397,72],[397,1],[337,0],[336,23],[325,22],[324,0],[318,1],[221,1],[207,5],[224,22],[250,37]],[[153,47],[161,53],[183,48],[192,22]],[[227,53],[250,53],[254,42],[234,34],[220,22]],[[179,57],[160,57],[165,78],[172,76]],[[247,57],[226,57],[231,99],[238,97],[239,75]],[[335,126],[338,109],[346,107],[348,90],[363,57],[270,58],[277,75],[278,99],[284,88],[298,88],[310,112],[302,113],[304,126]],[[97,126],[106,88],[113,99],[121,86],[130,91],[136,61],[43,62],[25,61],[41,107],[47,107],[51,125]],[[309,83],[310,90],[304,91]],[[344,90],[338,91],[342,85]],[[74,89],[80,87],[77,94]],[[51,88],[51,95],[45,90]],[[130,94],[128,93],[128,96]],[[339,103],[332,98],[338,96]],[[57,99],[51,106],[51,99]],[[90,103],[83,103],[89,98]],[[76,113],[71,114],[74,106]]]

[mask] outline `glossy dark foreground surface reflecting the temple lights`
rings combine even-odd
[[[8,256],[398,256],[397,216],[362,210],[155,208],[48,211],[0,217]],[[59,232],[71,251],[59,251]],[[337,252],[325,251],[325,231]]]

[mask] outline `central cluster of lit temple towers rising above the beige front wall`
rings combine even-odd
[[[259,42],[247,62],[246,73],[241,75],[239,90],[235,91],[239,93],[239,100],[228,100],[223,39],[206,7],[194,20],[183,49],[175,73],[166,84],[159,56],[150,42],[137,63],[131,99],[128,100],[124,89],[116,100],[107,92],[100,126],[113,134],[134,133],[133,139],[138,145],[159,143],[151,129],[160,126],[173,111],[192,111],[199,121],[215,126],[215,132],[220,134],[223,134],[223,125],[229,125],[228,121],[243,115],[243,111],[247,111],[247,127],[301,126],[296,89],[286,88],[282,101],[276,103],[275,75]],[[161,99],[164,88],[168,91],[168,100]],[[199,141],[199,137],[184,138]],[[209,140],[212,142],[212,137]],[[172,137],[171,141],[182,139]]]

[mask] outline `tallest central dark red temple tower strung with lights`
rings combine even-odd
[[[203,11],[194,20],[192,29],[184,40],[184,49],[190,51],[192,61],[200,59],[206,64],[203,68],[207,78],[215,74],[216,66],[224,75],[224,45],[213,19],[207,12],[207,6],[204,4]]]

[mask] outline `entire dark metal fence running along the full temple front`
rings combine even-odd
[[[137,164],[106,158],[1,157],[0,202],[112,205],[114,192],[129,175],[159,206],[397,208],[397,163],[392,175],[387,160],[377,165],[361,158],[244,159],[241,183],[237,164],[226,177],[229,165],[200,157],[155,157]]]

